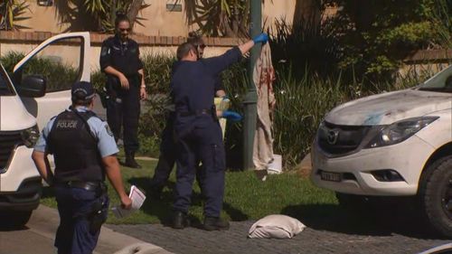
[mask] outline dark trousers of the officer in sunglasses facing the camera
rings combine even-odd
[[[108,82],[115,82],[112,79],[115,78],[109,78]],[[117,142],[123,128],[124,150],[126,154],[132,154],[139,147],[140,80],[138,75],[127,80],[129,89],[108,84],[107,121]]]

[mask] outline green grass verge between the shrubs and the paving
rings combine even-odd
[[[156,161],[139,161],[143,169],[122,167],[121,172],[127,189],[131,184],[146,191],[150,177],[154,174]],[[202,199],[197,183],[193,184],[193,204],[190,215],[194,220],[202,220]],[[164,189],[163,201],[146,199],[142,209],[131,216],[118,220],[110,212],[108,223],[159,223],[171,217],[173,199],[174,172],[168,187]],[[111,186],[108,188],[110,205],[118,204],[118,196]],[[52,190],[45,188],[42,204],[56,207]],[[316,188],[309,180],[299,174],[286,173],[268,175],[261,182],[253,172],[227,172],[226,190],[222,216],[231,221],[258,220],[268,214],[287,214],[293,217],[321,217],[328,208],[336,207],[333,192]],[[330,213],[330,212],[327,212]],[[325,214],[328,215],[328,214]]]

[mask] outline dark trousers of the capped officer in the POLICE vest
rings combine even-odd
[[[100,230],[94,233],[89,231],[89,214],[94,202],[102,202],[102,208],[108,209],[108,196],[98,197],[95,192],[79,188],[55,187],[55,199],[60,213],[60,226],[55,237],[58,253],[92,253],[98,243]]]

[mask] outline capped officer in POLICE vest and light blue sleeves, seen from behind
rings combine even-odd
[[[59,254],[89,254],[95,249],[100,227],[107,220],[105,174],[124,208],[132,201],[124,191],[116,154],[118,147],[106,122],[93,108],[89,82],[72,85],[72,106],[50,120],[33,151],[42,178],[54,188],[60,213],[55,247]],[[52,154],[52,174],[47,155]]]

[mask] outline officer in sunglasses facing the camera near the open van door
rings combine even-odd
[[[107,74],[107,120],[115,139],[123,127],[125,165],[140,168],[135,160],[138,143],[140,99],[146,99],[143,63],[138,43],[128,38],[130,22],[125,14],[117,14],[116,35],[102,43],[100,69]]]

